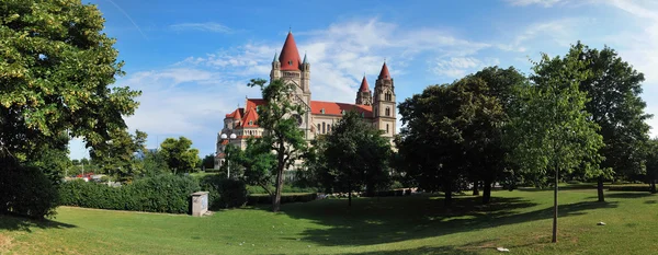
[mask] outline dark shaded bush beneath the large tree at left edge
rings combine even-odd
[[[3,161],[0,178],[0,213],[36,219],[55,215],[58,200],[57,188],[42,170],[0,161]]]

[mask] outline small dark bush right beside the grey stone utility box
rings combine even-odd
[[[212,210],[247,204],[247,186],[241,181],[227,179],[222,175],[206,175],[201,178],[201,187],[208,192],[208,207]]]

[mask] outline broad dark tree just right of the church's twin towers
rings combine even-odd
[[[506,114],[488,91],[483,79],[469,76],[429,86],[399,106],[406,127],[397,141],[408,174],[423,189],[442,190],[446,206],[468,177],[485,181],[483,202],[488,202],[491,183],[504,166]]]

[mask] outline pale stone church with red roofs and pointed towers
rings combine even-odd
[[[375,81],[374,92],[371,91],[365,76],[363,77],[361,86],[355,93],[354,104],[314,101],[311,100],[310,63],[307,61],[306,55],[303,60],[299,58],[293,33],[288,32],[281,54],[275,54],[272,60],[270,81],[276,79],[295,84],[294,100],[306,108],[304,115],[295,117],[307,141],[330,134],[343,114],[356,111],[365,121],[382,130],[382,136],[388,138],[393,143],[397,121],[395,85],[386,62],[382,66]],[[261,98],[246,98],[245,107],[236,108],[226,115],[224,127],[217,134],[215,169],[224,163],[226,144],[235,144],[243,150],[247,147],[247,138],[262,136],[264,129],[258,126],[257,113],[257,107],[262,104],[264,101]]]

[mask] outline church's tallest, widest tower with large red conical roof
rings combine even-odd
[[[304,61],[299,58],[297,44],[293,33],[288,32],[280,55],[274,55],[272,60],[272,71],[270,72],[270,82],[281,79],[286,83],[294,84],[292,101],[300,104],[305,108],[305,114],[295,114],[299,124],[299,129],[305,130],[305,137],[311,139],[311,113],[310,113],[310,63],[304,55]]]

